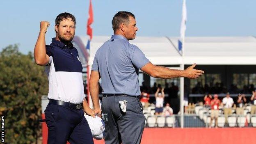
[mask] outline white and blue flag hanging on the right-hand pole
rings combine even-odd
[[[186,22],[187,22],[187,7],[186,7],[186,0],[183,0],[181,30],[180,30],[181,38],[178,40],[179,51],[181,51],[183,48],[183,41],[185,39],[185,31],[186,31]]]

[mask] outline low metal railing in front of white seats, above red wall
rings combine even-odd
[[[145,127],[149,128],[180,128],[181,127],[181,115],[171,115],[168,117],[155,116],[144,114],[146,117]],[[184,128],[210,128],[215,127],[215,119],[212,120],[210,126],[210,114],[203,114],[199,116],[197,114],[185,114],[183,116]],[[217,118],[218,128],[227,127],[256,127],[256,115],[236,115],[231,114],[227,117],[227,120],[223,114]]]

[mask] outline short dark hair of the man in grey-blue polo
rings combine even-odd
[[[119,11],[117,14],[114,15],[112,20],[112,28],[114,32],[119,28],[121,23],[128,25],[128,23],[130,22],[129,16],[135,18],[134,14],[128,11]]]

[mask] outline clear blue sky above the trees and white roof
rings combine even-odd
[[[182,0],[92,0],[94,36],[110,36],[118,11],[135,14],[137,36],[179,36]],[[256,0],[187,0],[186,36],[256,35]],[[40,21],[49,21],[46,43],[55,37],[55,18],[76,17],[76,35],[86,35],[89,0],[5,0],[0,2],[0,50],[19,43],[22,53],[33,51]]]

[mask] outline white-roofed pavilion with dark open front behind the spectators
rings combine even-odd
[[[87,66],[87,57],[89,57],[89,66],[91,66],[96,50],[110,36],[95,36],[90,42],[90,51],[86,50],[89,37],[76,36],[73,40],[74,46],[78,49],[83,66]],[[177,50],[178,37],[136,37],[130,43],[138,46],[146,55],[146,57],[155,65],[167,66],[172,69],[180,69],[182,57]],[[237,96],[238,93],[247,94],[247,98],[251,95],[249,85],[256,85],[256,37],[186,37],[185,41],[185,68],[197,63],[197,69],[202,69],[206,73],[197,80],[185,79],[185,94],[189,94],[188,101],[197,104],[203,101],[203,94],[213,91],[194,91],[193,88],[200,84],[201,87],[222,86],[223,91],[214,93],[223,94],[232,90],[231,96]],[[87,70],[85,69],[84,80],[86,80]],[[139,72],[139,83],[150,89],[154,83],[163,87],[171,85],[174,82],[179,87],[179,79],[170,80],[156,79]],[[86,83],[86,82],[85,82]],[[235,86],[236,90],[232,87]],[[242,91],[243,87],[247,87],[247,91]],[[251,90],[251,89],[250,89]],[[150,102],[153,103],[154,91],[151,94]],[[214,94],[212,93],[212,94]],[[223,94],[222,94],[223,93]],[[233,95],[232,95],[233,94]],[[174,113],[179,111],[179,99],[174,97],[170,100],[171,94],[166,94],[165,101],[169,102],[174,109]],[[179,95],[179,92],[178,92]]]

